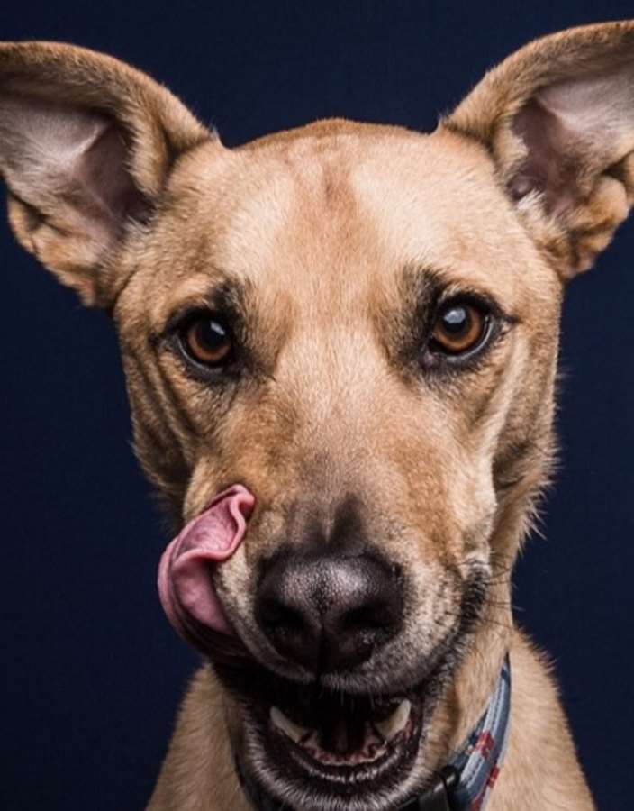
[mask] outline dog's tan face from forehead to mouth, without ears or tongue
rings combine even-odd
[[[146,465],[182,446],[187,518],[232,482],[257,497],[215,586],[258,662],[220,672],[270,788],[420,776],[426,701],[508,568],[491,537],[548,440],[561,284],[482,151],[349,123],[203,147],[116,306]]]

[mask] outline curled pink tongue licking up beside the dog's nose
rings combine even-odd
[[[169,544],[159,565],[159,596],[169,622],[197,647],[204,632],[231,634],[231,627],[213,588],[214,565],[240,546],[255,497],[233,485],[213,499]]]

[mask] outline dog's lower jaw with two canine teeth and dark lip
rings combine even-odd
[[[289,724],[288,716],[276,706],[270,706],[268,717],[263,706],[258,720],[252,706],[242,705],[240,769],[270,797],[290,807],[311,811],[393,808],[420,790],[433,770],[424,749],[436,692],[436,686],[432,689],[427,684],[410,691],[409,698],[376,698],[372,702],[375,716],[383,706],[387,717],[383,722],[367,721],[358,749],[345,753],[325,748],[332,744],[322,743],[323,729]],[[343,715],[350,699],[339,700]],[[331,697],[334,706],[337,701],[338,697]],[[381,732],[386,724],[391,727],[387,736]]]

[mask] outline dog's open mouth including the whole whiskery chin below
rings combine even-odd
[[[216,670],[240,706],[242,776],[280,804],[383,811],[412,792],[438,678],[394,695],[353,695],[255,664],[240,679]]]

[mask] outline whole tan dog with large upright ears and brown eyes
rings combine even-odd
[[[114,59],[2,46],[14,232],[113,314],[143,468],[178,523],[256,499],[152,811],[246,811],[234,755],[285,808],[399,806],[506,652],[489,809],[593,807],[510,578],[563,289],[628,214],[632,150],[634,23],[532,43],[431,135],[327,121],[238,150]]]

